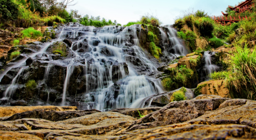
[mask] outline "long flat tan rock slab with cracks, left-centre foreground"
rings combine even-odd
[[[102,135],[108,132],[111,133],[111,131],[113,132],[124,129],[125,127],[128,127],[134,120],[136,119],[131,116],[125,116],[117,112],[98,112],[58,122],[31,118],[15,120],[14,122],[16,122],[16,124],[27,124],[27,128],[29,127],[28,131],[19,131],[20,133],[46,136],[51,132]],[[0,124],[1,123],[6,123],[8,126],[10,126],[13,124],[13,121],[0,122]],[[16,127],[13,126],[11,128]]]

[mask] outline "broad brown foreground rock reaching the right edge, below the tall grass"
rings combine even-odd
[[[212,112],[187,121],[189,124],[240,124],[256,128],[256,101],[232,99],[225,101]]]

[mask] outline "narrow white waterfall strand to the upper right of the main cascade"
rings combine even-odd
[[[177,37],[177,31],[174,28],[172,28],[171,26],[165,26],[165,27],[168,28],[167,35],[169,36],[169,41],[173,44],[175,57],[186,56],[187,49],[185,48],[185,46],[183,46],[180,43],[180,40]],[[171,54],[171,55],[173,55],[173,54]]]

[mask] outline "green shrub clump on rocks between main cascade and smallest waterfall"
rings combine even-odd
[[[169,68],[168,71],[170,76],[162,80],[163,87],[168,91],[187,86],[189,84],[188,81],[194,76],[194,71],[186,68],[186,66]]]

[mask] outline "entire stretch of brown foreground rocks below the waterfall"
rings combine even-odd
[[[164,107],[1,107],[1,140],[254,140],[256,101],[200,95]],[[65,111],[67,110],[67,111]],[[140,114],[145,115],[140,118]]]

